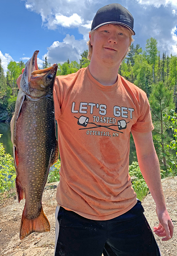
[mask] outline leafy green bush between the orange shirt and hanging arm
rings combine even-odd
[[[139,169],[138,162],[132,162],[129,165],[129,174],[132,178],[132,187],[137,194],[137,198],[141,201],[147,195],[149,189]]]

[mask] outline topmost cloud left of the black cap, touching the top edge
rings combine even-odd
[[[23,0],[25,7],[41,15],[43,25],[56,29],[57,25],[64,27],[84,25],[90,20],[94,3],[90,0]]]

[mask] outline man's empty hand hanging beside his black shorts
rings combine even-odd
[[[165,236],[165,238],[162,238],[162,241],[168,241],[173,236],[174,226],[172,220],[166,209],[160,211],[156,208],[156,213],[159,219],[159,226],[154,227],[154,232],[160,237]]]

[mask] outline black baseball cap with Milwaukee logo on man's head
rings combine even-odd
[[[107,24],[116,23],[129,28],[133,32],[133,35],[135,35],[133,21],[133,16],[125,7],[116,3],[109,4],[101,7],[97,11],[93,18],[91,30],[96,30]]]

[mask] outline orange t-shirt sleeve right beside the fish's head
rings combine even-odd
[[[61,115],[61,108],[60,108],[60,86],[59,86],[59,79],[56,77],[55,85],[53,89],[53,100],[55,106],[55,118],[58,119]]]

